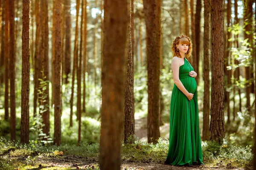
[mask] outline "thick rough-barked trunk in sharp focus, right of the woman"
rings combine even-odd
[[[212,0],[212,94],[210,140],[221,143],[224,127],[223,0]]]

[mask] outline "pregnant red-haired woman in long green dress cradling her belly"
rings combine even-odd
[[[170,106],[169,151],[165,163],[171,165],[203,165],[198,122],[197,85],[189,61],[192,43],[181,35],[172,43],[174,87]]]

